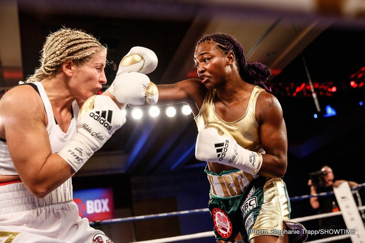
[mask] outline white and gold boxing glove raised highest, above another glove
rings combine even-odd
[[[149,74],[157,67],[156,54],[145,47],[133,47],[119,63],[117,75],[123,72],[140,72]]]

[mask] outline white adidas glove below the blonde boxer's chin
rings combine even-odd
[[[77,134],[58,154],[77,172],[125,122],[124,113],[110,97],[92,96],[80,109]]]

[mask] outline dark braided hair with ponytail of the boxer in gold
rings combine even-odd
[[[246,62],[243,48],[234,37],[222,33],[206,34],[199,39],[196,47],[201,43],[209,41],[216,42],[217,47],[223,51],[224,55],[228,55],[230,52],[235,54],[239,74],[245,82],[249,84],[261,84],[266,90],[271,91],[265,85],[265,82],[271,75],[271,70],[260,62]]]

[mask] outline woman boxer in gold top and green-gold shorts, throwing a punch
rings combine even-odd
[[[236,39],[221,33],[203,36],[194,60],[199,79],[159,85],[158,105],[187,102],[193,110],[216,242],[304,241],[303,226],[289,220],[281,179],[287,166],[282,109],[257,86],[266,88],[269,68],[246,62]]]

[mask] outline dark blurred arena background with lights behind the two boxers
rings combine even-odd
[[[159,58],[151,80],[171,84],[197,76],[193,55],[202,34],[228,33],[248,61],[272,70],[268,86],[282,105],[287,128],[283,179],[289,197],[308,195],[309,173],[324,165],[333,168],[335,179],[364,183],[365,6],[360,0],[257,2],[2,0],[1,95],[33,73],[45,37],[62,26],[83,29],[107,46],[105,89],[134,46],[152,49]],[[184,105],[161,106],[157,116],[127,107],[126,124],[74,176],[75,192],[101,189],[97,193],[107,196],[90,192],[93,198],[78,202],[83,213],[100,213],[92,224],[114,242],[213,230],[206,211],[206,164],[194,156],[197,128],[193,115],[182,113]],[[166,114],[170,109],[174,116]],[[359,194],[365,201],[365,190]],[[193,210],[201,211],[181,213]],[[291,218],[316,214],[309,198],[293,200],[291,210]],[[180,213],[135,219],[172,212]],[[129,217],[134,220],[102,223]],[[303,225],[318,228],[317,220]],[[308,241],[315,239],[310,235]],[[214,237],[174,242],[214,242]]]

